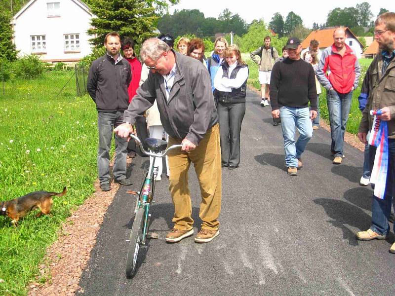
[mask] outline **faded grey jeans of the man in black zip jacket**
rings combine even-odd
[[[110,147],[114,127],[123,122],[123,111],[98,112],[99,149],[97,151],[97,171],[100,185],[110,182]],[[115,180],[126,178],[127,141],[114,134],[115,161],[113,175]]]

